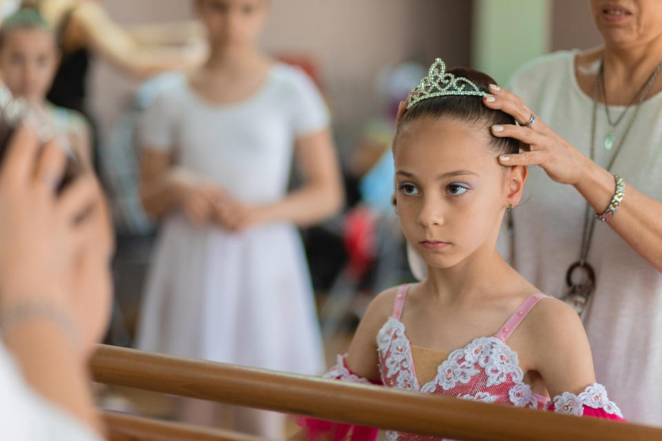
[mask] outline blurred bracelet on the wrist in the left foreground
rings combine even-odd
[[[45,303],[24,302],[0,312],[0,332],[10,334],[16,325],[25,320],[46,320],[57,325],[74,345],[81,342],[79,330],[74,326],[69,314]]]

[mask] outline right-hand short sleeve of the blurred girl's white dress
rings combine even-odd
[[[294,137],[299,138],[328,127],[330,117],[328,107],[310,77],[299,69],[290,69],[288,102]]]

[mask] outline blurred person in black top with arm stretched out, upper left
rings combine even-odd
[[[86,104],[90,59],[100,57],[128,76],[147,79],[172,69],[199,65],[205,56],[199,26],[183,22],[132,31],[118,25],[94,0],[3,0],[0,11],[35,10],[55,32],[59,67],[48,90],[51,103],[76,110],[95,127]],[[92,131],[97,145],[96,130]],[[99,167],[97,149],[94,163]]]

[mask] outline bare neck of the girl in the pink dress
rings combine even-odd
[[[471,256],[450,268],[428,267],[428,278],[423,282],[426,291],[444,302],[461,303],[474,298],[497,295],[508,288],[516,272],[490,247],[477,250]]]

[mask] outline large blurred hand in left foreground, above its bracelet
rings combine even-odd
[[[94,176],[57,194],[65,167],[64,150],[41,149],[26,127],[10,140],[0,167],[0,314],[51,308],[87,350],[108,322],[112,231]]]

